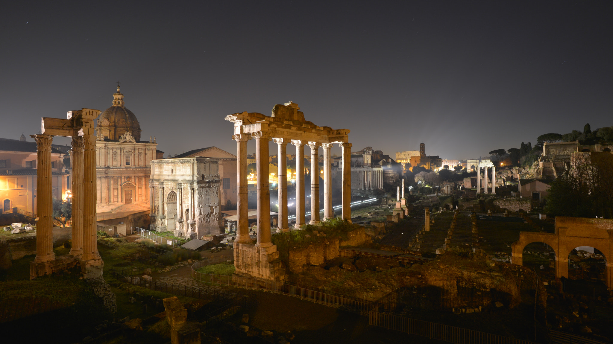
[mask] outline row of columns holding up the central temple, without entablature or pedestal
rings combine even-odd
[[[270,137],[262,132],[233,135],[237,141],[237,241],[249,241],[248,197],[247,197],[247,141],[256,140],[256,173],[257,173],[257,246],[272,246],[270,241],[270,185],[268,182],[268,141]],[[287,143],[284,138],[272,138],[278,146],[278,179],[279,179],[279,231],[289,231],[287,223]],[[307,141],[291,140],[296,147],[296,224],[295,228],[305,224],[305,188],[304,188],[304,146]],[[332,143],[307,143],[311,149],[311,220],[310,224],[319,221],[319,154],[318,148],[324,149],[324,220],[334,217],[332,208]],[[343,150],[343,184],[342,212],[343,219],[351,221],[351,143],[340,143]]]

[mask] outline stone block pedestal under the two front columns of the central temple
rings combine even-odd
[[[236,242],[234,244],[234,266],[237,275],[249,275],[260,279],[283,281],[285,267],[281,263],[276,245],[257,247]]]

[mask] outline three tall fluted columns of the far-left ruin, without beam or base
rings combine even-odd
[[[55,260],[53,253],[53,196],[51,185],[51,135],[31,135],[36,141],[36,258]],[[82,260],[100,258],[96,241],[96,141],[72,136],[72,247],[70,255]]]

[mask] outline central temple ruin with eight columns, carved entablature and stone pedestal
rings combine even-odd
[[[277,104],[271,116],[261,113],[235,113],[226,116],[234,123],[232,139],[237,141],[237,239],[234,244],[234,266],[237,274],[269,280],[283,280],[284,269],[277,260],[279,252],[270,241],[270,191],[268,183],[268,141],[278,145],[278,156],[286,156],[287,143],[294,144],[296,157],[304,156],[304,146],[311,149],[311,171],[318,171],[318,149],[324,149],[324,220],[334,217],[332,208],[332,159],[330,149],[338,143],[342,160],[342,217],[351,221],[351,143],[348,129],[318,127],[305,121],[297,104]],[[257,242],[251,244],[247,204],[247,141],[256,140],[257,173]],[[305,190],[303,159],[296,159],[296,224],[305,225]],[[279,231],[289,231],[287,225],[287,178],[285,159],[279,159]],[[311,173],[311,220],[319,223],[319,173]]]

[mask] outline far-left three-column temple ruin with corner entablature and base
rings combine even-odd
[[[100,110],[68,111],[67,119],[42,118],[37,146],[36,258],[30,279],[62,271],[80,263],[83,277],[102,275],[104,262],[96,241],[96,135],[94,119]],[[53,198],[51,196],[51,142],[53,136],[72,137],[72,248],[64,256],[53,253]]]

